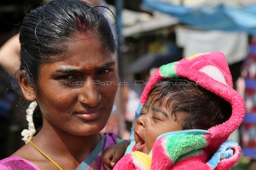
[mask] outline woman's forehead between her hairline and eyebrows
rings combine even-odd
[[[109,50],[102,48],[97,38],[79,36],[76,41],[70,42],[65,52],[51,57],[52,62],[44,64],[52,69],[83,70],[87,66],[95,69],[115,65],[115,56]]]

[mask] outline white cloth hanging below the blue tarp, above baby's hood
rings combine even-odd
[[[189,27],[175,27],[177,45],[184,48],[183,56],[193,53],[220,51],[228,65],[243,60],[248,53],[248,35],[241,32],[200,31]]]

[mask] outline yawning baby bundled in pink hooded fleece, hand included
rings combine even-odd
[[[114,169],[230,169],[241,149],[225,141],[244,111],[222,53],[164,65],[141,95],[131,144]],[[124,153],[121,145],[104,152],[107,169]]]

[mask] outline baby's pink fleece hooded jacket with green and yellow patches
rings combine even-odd
[[[230,169],[241,148],[228,136],[241,124],[245,114],[243,97],[233,89],[232,76],[221,52],[196,54],[159,67],[141,94],[134,122],[147,102],[148,92],[160,81],[173,76],[188,78],[222,97],[232,106],[231,117],[207,130],[191,129],[159,136],[150,154],[135,150],[134,141],[114,169]],[[134,139],[133,129],[131,139]]]

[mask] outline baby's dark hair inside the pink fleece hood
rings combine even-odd
[[[232,113],[230,103],[186,78],[161,81],[149,95],[153,96],[150,103],[159,104],[168,97],[166,108],[176,119],[179,117],[182,129],[207,130],[226,122]]]

